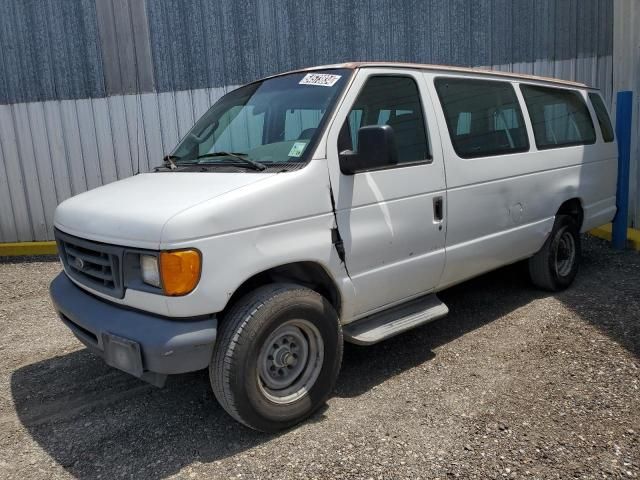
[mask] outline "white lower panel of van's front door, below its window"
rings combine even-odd
[[[337,203],[346,263],[358,294],[356,314],[430,290],[440,276],[444,250],[432,211],[433,198],[444,190],[423,192],[429,185],[427,167],[357,174],[353,185],[341,188],[342,193],[353,188]],[[406,196],[398,194],[399,186]],[[343,207],[345,198],[352,208]]]

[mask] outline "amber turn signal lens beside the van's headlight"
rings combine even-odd
[[[186,295],[196,288],[201,263],[197,250],[160,252],[160,277],[165,295]]]

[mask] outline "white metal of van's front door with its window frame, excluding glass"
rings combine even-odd
[[[416,82],[433,161],[344,175],[338,135],[367,79],[376,75],[408,76]],[[425,92],[418,71],[361,69],[331,123],[326,143],[329,174],[345,262],[356,291],[346,322],[433,290],[444,268],[445,227],[434,222],[434,199],[442,197],[446,203],[444,168],[438,132],[431,127],[433,107]]]

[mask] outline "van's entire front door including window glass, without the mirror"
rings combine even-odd
[[[353,316],[432,290],[445,263],[445,177],[434,112],[417,71],[361,69],[328,135],[338,232],[355,288]],[[357,151],[366,125],[393,128],[399,163],[345,175],[339,152]],[[435,134],[434,134],[435,133]]]

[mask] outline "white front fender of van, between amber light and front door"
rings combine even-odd
[[[196,289],[185,297],[167,297],[171,316],[219,312],[247,279],[298,261],[322,266],[341,291],[343,305],[350,304],[350,280],[332,243],[335,217],[326,160],[312,160],[262,183],[196,205],[166,223],[161,249],[202,252]]]

